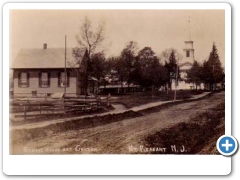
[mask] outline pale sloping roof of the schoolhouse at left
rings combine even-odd
[[[72,55],[72,49],[66,51],[66,67],[76,68],[76,63]],[[65,49],[21,49],[12,64],[12,69],[47,69],[47,68],[64,68],[65,67]]]

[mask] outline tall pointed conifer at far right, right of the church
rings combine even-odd
[[[210,90],[216,89],[216,83],[221,83],[224,78],[223,68],[218,56],[217,47],[213,43],[208,61],[203,63],[202,79]]]

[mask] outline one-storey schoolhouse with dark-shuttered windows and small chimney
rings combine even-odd
[[[20,50],[11,67],[14,96],[50,96],[64,93],[65,86],[66,95],[81,94],[79,65],[74,63],[72,49],[66,50],[66,62],[65,74],[64,48],[48,49],[44,44],[43,49]]]

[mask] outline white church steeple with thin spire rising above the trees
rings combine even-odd
[[[189,37],[188,40],[184,41],[185,48],[183,49],[184,52],[184,62],[194,62],[194,48],[193,48],[193,41],[191,40],[191,31],[190,31],[190,19],[188,19],[188,32]]]

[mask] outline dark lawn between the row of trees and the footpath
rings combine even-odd
[[[198,95],[203,93],[203,91],[194,90],[183,90],[177,91],[177,100],[189,99],[193,95]],[[174,91],[147,91],[147,92],[137,92],[129,93],[125,95],[119,95],[111,99],[112,103],[124,104],[127,108],[132,108],[134,106],[139,106],[142,104],[147,104],[156,101],[170,101],[174,99]]]

